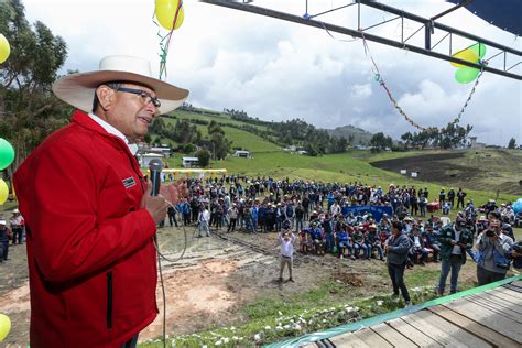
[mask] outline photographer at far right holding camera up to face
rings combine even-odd
[[[497,217],[489,219],[488,228],[477,237],[476,247],[477,280],[479,285],[489,284],[505,278],[510,268],[507,255],[513,240],[502,232]]]

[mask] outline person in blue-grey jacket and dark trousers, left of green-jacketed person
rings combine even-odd
[[[406,306],[410,306],[410,294],[404,284],[404,269],[406,268],[410,238],[402,230],[401,221],[392,222],[392,235],[388,238],[384,249],[388,257],[388,273],[393,284],[393,295],[399,296],[401,290]]]

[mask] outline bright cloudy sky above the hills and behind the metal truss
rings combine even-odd
[[[153,74],[160,70],[160,36],[167,31],[154,23],[153,0],[22,0],[30,22],[45,23],[68,45],[63,74],[69,69],[98,69],[101,57],[123,54],[146,58]],[[316,14],[349,0],[309,0]],[[385,4],[429,18],[452,7],[443,0],[382,0]],[[255,0],[253,4],[303,15],[305,0]],[[445,127],[454,120],[470,95],[471,84],[458,84],[448,62],[413,52],[354,40],[326,30],[184,1],[185,19],[174,31],[167,55],[166,80],[191,90],[187,102],[221,111],[244,110],[267,121],[304,119],[317,128],[352,124],[399,140],[417,131],[396,112],[385,90],[376,81],[370,56],[392,96],[405,113],[422,127]],[[363,28],[393,15],[362,8]],[[357,9],[350,7],[317,20],[357,29]],[[459,9],[439,20],[505,46],[522,50],[522,37],[502,31]],[[370,33],[398,40],[399,21]],[[420,24],[405,22],[404,36]],[[432,42],[443,34],[435,32]],[[423,33],[412,36],[422,43]],[[472,42],[453,40],[453,52]],[[447,53],[448,40],[437,51]],[[491,48],[487,53],[494,54]],[[511,62],[510,62],[511,59]],[[520,61],[520,58],[519,58]],[[515,64],[508,57],[508,66]],[[500,67],[502,59],[491,61]],[[522,65],[513,68],[522,74]],[[471,124],[479,142],[505,146],[511,138],[522,143],[522,84],[485,73],[471,96],[461,124]]]

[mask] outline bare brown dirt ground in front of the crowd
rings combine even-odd
[[[239,307],[257,296],[290,298],[325,281],[345,283],[354,298],[391,291],[388,278],[383,276],[384,263],[379,260],[345,261],[341,264],[330,255],[297,253],[294,262],[296,282],[279,283],[280,252],[275,233],[253,236],[235,232],[224,235],[227,240],[217,235],[195,238],[194,227],[185,231],[187,249],[180,261],[175,259],[185,244],[184,230],[165,227],[159,232],[160,251],[171,259],[162,262],[167,298],[166,333],[171,336],[230,326],[241,319]],[[252,248],[254,241],[257,247]],[[438,268],[439,264],[431,263],[426,270]],[[467,264],[461,279],[475,279],[474,270]],[[0,313],[12,320],[11,333],[3,344],[8,347],[26,347],[30,305],[25,246],[10,248],[10,260],[0,264]],[[162,335],[161,289],[159,281],[156,297],[160,314],[140,334],[140,341]]]

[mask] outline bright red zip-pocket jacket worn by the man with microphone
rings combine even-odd
[[[14,173],[25,218],[31,347],[120,347],[156,316],[155,224],[126,143],[86,113]]]

